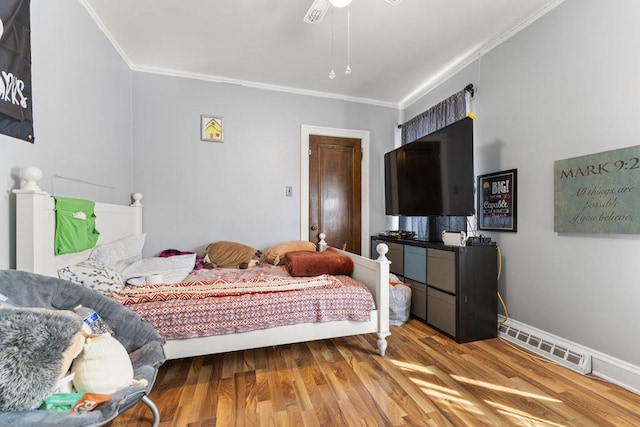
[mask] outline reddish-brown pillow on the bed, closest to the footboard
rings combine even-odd
[[[321,274],[345,275],[353,273],[353,261],[334,249],[325,252],[289,252],[285,266],[294,277],[319,276]]]

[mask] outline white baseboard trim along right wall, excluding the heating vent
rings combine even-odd
[[[498,319],[502,320],[504,319],[504,316],[498,315]],[[631,363],[617,359],[608,354],[568,341],[562,337],[558,337],[557,335],[550,334],[549,332],[541,331],[540,329],[527,325],[526,323],[513,319],[509,319],[509,322],[521,329],[539,331],[544,335],[554,337],[553,339],[557,341],[570,343],[571,346],[580,349],[583,353],[591,355],[591,375],[605,379],[633,393],[640,394],[640,366],[632,365]]]

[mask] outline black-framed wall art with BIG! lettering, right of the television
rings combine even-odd
[[[517,231],[518,170],[478,176],[478,228]]]

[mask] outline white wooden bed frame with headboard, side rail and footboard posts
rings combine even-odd
[[[55,256],[54,199],[37,185],[27,184],[16,193],[16,268],[18,270],[57,277],[61,268],[74,265],[88,257],[88,251]],[[98,244],[142,233],[141,195],[134,194],[129,205],[96,203],[96,228],[100,231]],[[164,351],[167,359],[223,353],[312,341],[358,334],[377,334],[377,350],[384,356],[389,332],[389,264],[388,248],[378,246],[378,258],[334,249],[353,261],[351,277],[366,286],[373,297],[374,308],[364,321],[339,320],[300,323],[234,334],[167,339]]]

